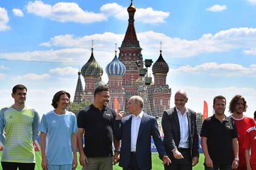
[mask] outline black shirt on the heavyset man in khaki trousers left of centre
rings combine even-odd
[[[87,157],[107,157],[113,155],[113,121],[116,112],[109,107],[99,110],[91,104],[80,110],[77,116],[78,128],[85,129],[84,152]]]

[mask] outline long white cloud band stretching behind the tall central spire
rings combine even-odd
[[[199,39],[187,40],[167,36],[154,31],[137,33],[143,56],[157,59],[159,56],[159,42],[162,41],[163,57],[167,62],[171,58],[188,58],[202,53],[229,52],[241,49],[244,54],[248,50],[254,51],[256,46],[256,28],[233,28],[222,30],[212,35],[204,34]],[[38,50],[27,52],[0,53],[0,58],[6,60],[26,61],[57,61],[65,63],[86,63],[91,55],[91,39],[94,39],[94,56],[97,61],[107,64],[114,56],[115,42],[121,46],[124,34],[105,32],[102,34],[85,35],[58,35],[49,39],[49,47],[58,47],[58,50]],[[42,44],[42,43],[41,43]],[[63,49],[59,49],[59,48]],[[256,53],[250,53],[256,55]],[[81,67],[82,67],[81,65]]]

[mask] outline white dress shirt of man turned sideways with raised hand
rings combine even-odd
[[[130,151],[136,152],[136,144],[137,144],[137,137],[138,131],[140,129],[140,122],[143,115],[143,111],[140,112],[137,116],[132,115],[132,124],[131,124],[131,131],[130,131]]]

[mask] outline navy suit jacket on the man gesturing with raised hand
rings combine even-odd
[[[132,115],[124,117],[122,120],[115,120],[113,134],[116,140],[121,140],[119,166],[127,168],[130,165],[130,138],[131,138]],[[145,113],[141,118],[138,132],[136,155],[140,169],[151,169],[151,135],[159,157],[166,155],[165,146],[158,131],[157,120]]]

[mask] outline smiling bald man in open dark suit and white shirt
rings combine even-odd
[[[176,107],[163,112],[162,117],[163,142],[172,161],[165,170],[189,170],[199,158],[196,113],[185,107],[188,98],[184,90],[178,90],[174,99]]]

